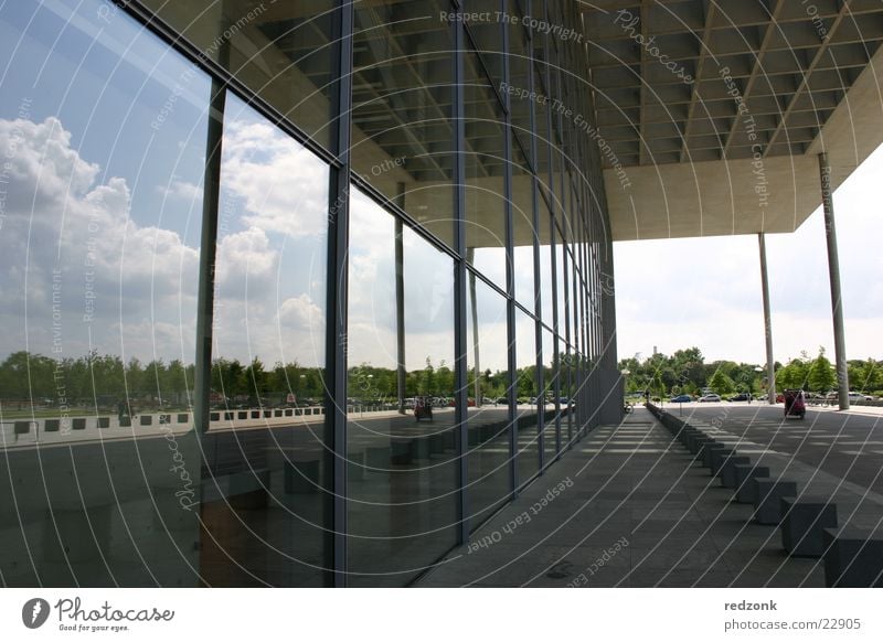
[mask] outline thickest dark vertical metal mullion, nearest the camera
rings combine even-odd
[[[352,137],[353,4],[343,2],[334,11],[334,33],[340,43],[334,52],[338,71],[333,114],[334,152],[339,167],[332,167],[328,194],[328,281],[326,324],[326,451],[333,451],[331,466],[325,467],[323,488],[331,489],[331,532],[326,541],[326,557],[333,569],[332,584],[345,587],[347,578],[347,304],[350,223],[350,146]],[[330,448],[329,448],[330,446]]]

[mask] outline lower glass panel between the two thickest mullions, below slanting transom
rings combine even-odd
[[[349,580],[401,586],[456,542],[454,261],[350,202]]]

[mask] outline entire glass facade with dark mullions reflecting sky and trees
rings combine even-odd
[[[544,14],[0,9],[0,584],[408,585],[598,422],[599,157],[553,107],[592,96]]]

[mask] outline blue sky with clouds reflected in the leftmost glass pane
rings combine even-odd
[[[0,353],[192,362],[209,82],[102,7],[0,10]]]

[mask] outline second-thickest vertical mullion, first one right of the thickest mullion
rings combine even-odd
[[[461,9],[456,9],[458,17]],[[462,545],[469,541],[469,425],[468,425],[468,364],[467,364],[467,325],[466,325],[466,122],[464,106],[464,30],[461,20],[456,20],[454,30],[454,245],[457,258],[454,263],[454,371],[457,382],[455,426],[457,426],[457,477],[458,477],[458,527],[457,543]]]

